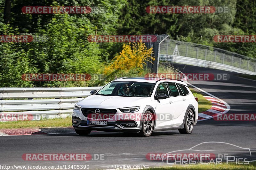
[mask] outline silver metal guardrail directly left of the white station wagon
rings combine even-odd
[[[76,102],[101,87],[0,88],[0,121],[17,115],[32,119],[54,118],[72,114]]]

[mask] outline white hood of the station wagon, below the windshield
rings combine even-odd
[[[151,102],[149,97],[124,97],[124,96],[100,96],[91,95],[77,102],[79,106],[90,107],[90,106],[107,106],[113,108],[122,107],[134,107],[146,105]]]

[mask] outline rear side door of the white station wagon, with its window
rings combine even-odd
[[[180,126],[183,123],[188,107],[185,101],[186,97],[184,97],[178,84],[171,82],[167,84],[171,92],[170,100],[174,106],[173,126]]]

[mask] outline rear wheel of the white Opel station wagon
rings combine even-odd
[[[180,134],[190,134],[194,129],[195,117],[193,111],[189,109],[185,117],[184,128],[179,129]]]

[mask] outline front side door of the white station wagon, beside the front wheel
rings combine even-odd
[[[156,89],[156,96],[158,93],[164,93],[168,96],[167,99],[154,100],[157,110],[156,129],[169,128],[173,125],[174,107],[170,103],[170,92],[166,83],[160,83]]]

